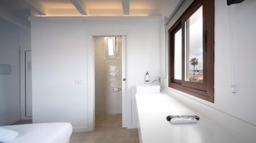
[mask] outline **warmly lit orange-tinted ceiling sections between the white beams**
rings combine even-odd
[[[70,0],[37,1],[40,1],[47,16],[81,16]],[[80,3],[88,16],[123,16],[122,0],[76,1]],[[163,4],[164,0],[130,0],[130,16],[160,16]]]

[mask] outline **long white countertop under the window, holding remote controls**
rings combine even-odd
[[[171,96],[137,94],[140,143],[249,143],[243,135],[204,116]],[[168,115],[197,115],[197,123],[174,124]],[[239,129],[238,129],[239,130]]]

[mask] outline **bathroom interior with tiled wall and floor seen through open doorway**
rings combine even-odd
[[[121,36],[94,37],[95,129],[122,127]]]

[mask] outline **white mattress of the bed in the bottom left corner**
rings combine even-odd
[[[42,123],[2,126],[18,132],[18,136],[8,143],[67,143],[72,134],[70,123]]]

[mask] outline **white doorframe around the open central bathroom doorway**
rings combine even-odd
[[[131,31],[88,31],[87,35],[87,69],[88,69],[88,128],[89,131],[93,131],[95,128],[95,52],[94,52],[94,37],[110,37],[110,36],[126,36],[126,45],[123,45],[122,42],[122,56],[125,55],[125,59],[122,58],[122,68],[125,64],[125,69],[122,69],[122,78],[126,78],[125,88],[123,89],[122,81],[122,127],[129,128],[132,126],[132,96],[131,91],[127,89],[129,87],[130,81],[129,78],[129,46],[131,43],[130,40]],[[123,53],[125,53],[123,55]],[[123,62],[124,61],[124,62]],[[123,75],[126,74],[126,77]]]

